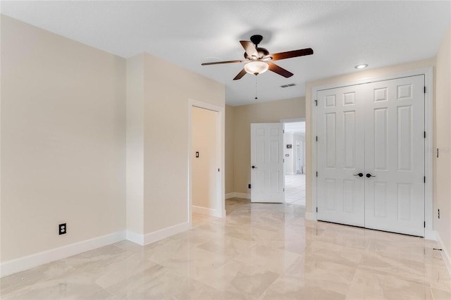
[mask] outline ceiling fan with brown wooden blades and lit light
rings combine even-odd
[[[202,65],[218,65],[222,63],[246,63],[245,68],[241,70],[233,80],[239,80],[246,73],[259,75],[265,73],[267,70],[273,71],[283,77],[291,77],[293,73],[284,68],[279,67],[271,61],[279,61],[280,59],[292,58],[297,56],[305,56],[313,54],[313,49],[299,49],[293,51],[280,52],[269,54],[269,51],[259,47],[263,37],[261,35],[252,35],[251,41],[240,41],[242,47],[245,49],[245,59],[239,61],[216,61],[214,63],[202,63]]]

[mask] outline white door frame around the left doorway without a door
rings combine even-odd
[[[225,142],[225,108],[222,106],[216,106],[214,104],[209,104],[203,101],[198,101],[194,99],[188,99],[188,221],[190,227],[192,225],[192,108],[204,108],[209,111],[215,111],[217,114],[216,118],[216,165],[221,170],[218,172],[218,180],[216,186],[216,210],[212,211],[211,215],[215,217],[224,218],[226,217],[226,200],[224,191],[226,190],[226,176],[224,175],[224,165],[225,163],[225,153],[224,153],[224,142]]]

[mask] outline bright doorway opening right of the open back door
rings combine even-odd
[[[305,120],[283,123],[285,203],[305,206]]]

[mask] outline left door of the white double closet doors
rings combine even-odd
[[[317,93],[318,220],[364,226],[362,96],[359,85]]]

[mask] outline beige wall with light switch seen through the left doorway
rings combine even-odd
[[[218,159],[216,154],[217,112],[192,108],[192,205],[201,208],[218,208],[216,201]],[[199,152],[199,157],[196,157]]]

